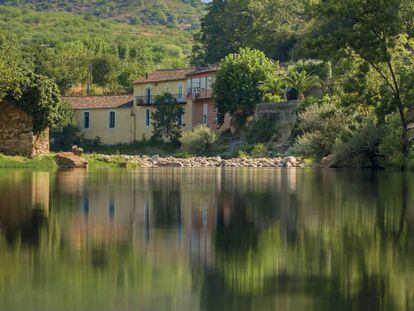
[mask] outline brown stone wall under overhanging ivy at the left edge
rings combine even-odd
[[[49,130],[33,134],[32,117],[20,109],[0,102],[0,153],[36,156],[49,152]]]

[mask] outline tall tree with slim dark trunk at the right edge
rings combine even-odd
[[[413,9],[408,0],[315,1],[310,41],[311,48],[323,46],[319,52],[328,57],[352,52],[378,74],[382,93],[388,94],[382,104],[393,107],[400,116],[404,156],[409,150],[406,108],[412,103],[405,81],[410,81],[412,73],[401,71],[395,47],[401,35],[412,32]]]

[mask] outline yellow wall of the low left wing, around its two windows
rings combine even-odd
[[[83,112],[90,113],[90,128],[84,129]],[[109,112],[115,111],[115,128],[109,128]],[[77,109],[75,119],[86,139],[99,137],[106,145],[129,143],[134,141],[134,121],[131,108],[117,109]]]

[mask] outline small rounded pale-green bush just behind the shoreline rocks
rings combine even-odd
[[[181,138],[183,150],[194,155],[210,154],[216,141],[216,133],[205,125],[196,126]]]

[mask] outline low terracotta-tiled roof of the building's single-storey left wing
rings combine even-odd
[[[73,109],[130,108],[132,95],[121,96],[69,96],[65,97]]]

